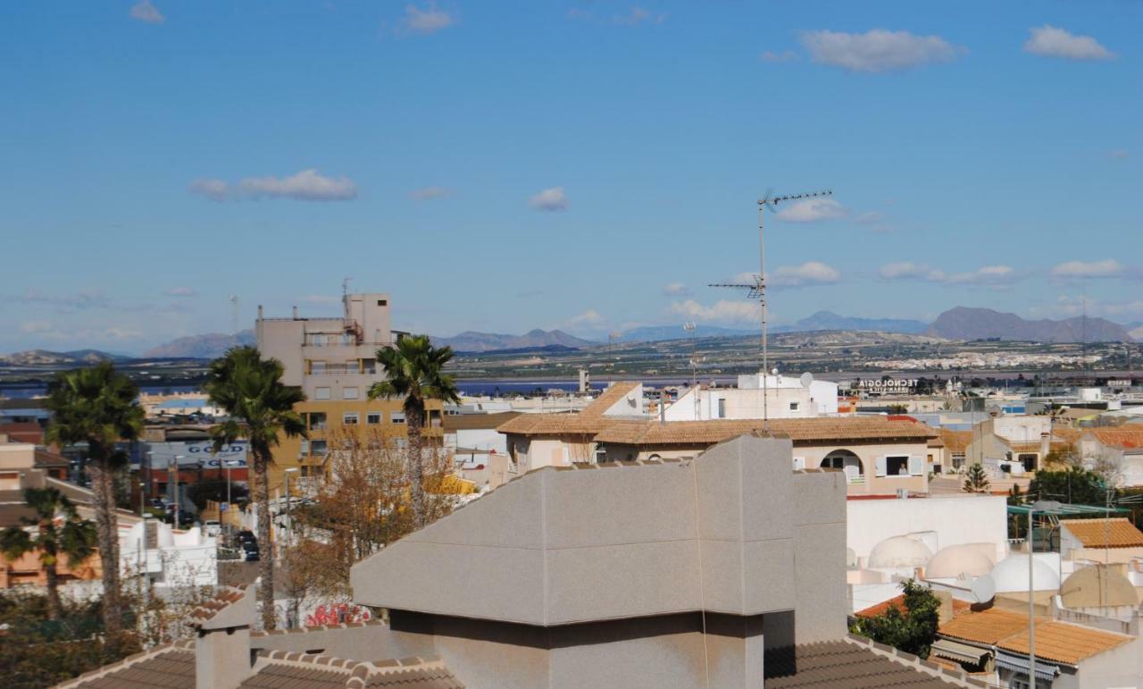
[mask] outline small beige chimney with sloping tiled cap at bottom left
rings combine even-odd
[[[255,617],[253,588],[223,588],[194,610],[194,688],[238,689],[254,672],[250,623]]]

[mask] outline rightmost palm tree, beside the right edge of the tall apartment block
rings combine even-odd
[[[397,344],[377,350],[377,361],[387,380],[373,383],[369,399],[378,397],[405,399],[405,422],[408,427],[409,484],[413,497],[413,525],[425,525],[424,457],[421,454],[421,430],[425,423],[425,402],[440,399],[457,403],[461,391],[456,380],[447,375],[445,364],[453,358],[451,347],[433,347],[427,335],[400,335]]]

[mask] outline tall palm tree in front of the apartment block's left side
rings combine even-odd
[[[262,601],[262,624],[274,628],[274,562],[270,544],[270,486],[266,468],[274,460],[271,449],[282,434],[289,437],[309,437],[302,417],[294,405],[305,402],[301,388],[282,385],[285,367],[274,358],[262,358],[254,347],[233,347],[222,358],[210,363],[207,382],[202,388],[210,402],[230,417],[215,426],[214,451],[238,438],[250,443],[254,458],[254,499],[258,504],[258,599]]]

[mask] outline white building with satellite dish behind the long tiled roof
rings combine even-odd
[[[808,379],[807,379],[808,380]],[[764,390],[765,382],[765,390]],[[838,413],[838,383],[781,374],[749,373],[738,377],[737,388],[692,388],[666,407],[668,421],[711,419],[807,419]]]

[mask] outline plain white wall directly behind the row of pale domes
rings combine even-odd
[[[846,545],[868,557],[886,538],[935,531],[937,548],[991,543],[999,562],[1008,548],[1007,498],[1004,496],[930,496],[927,498],[847,500]]]

